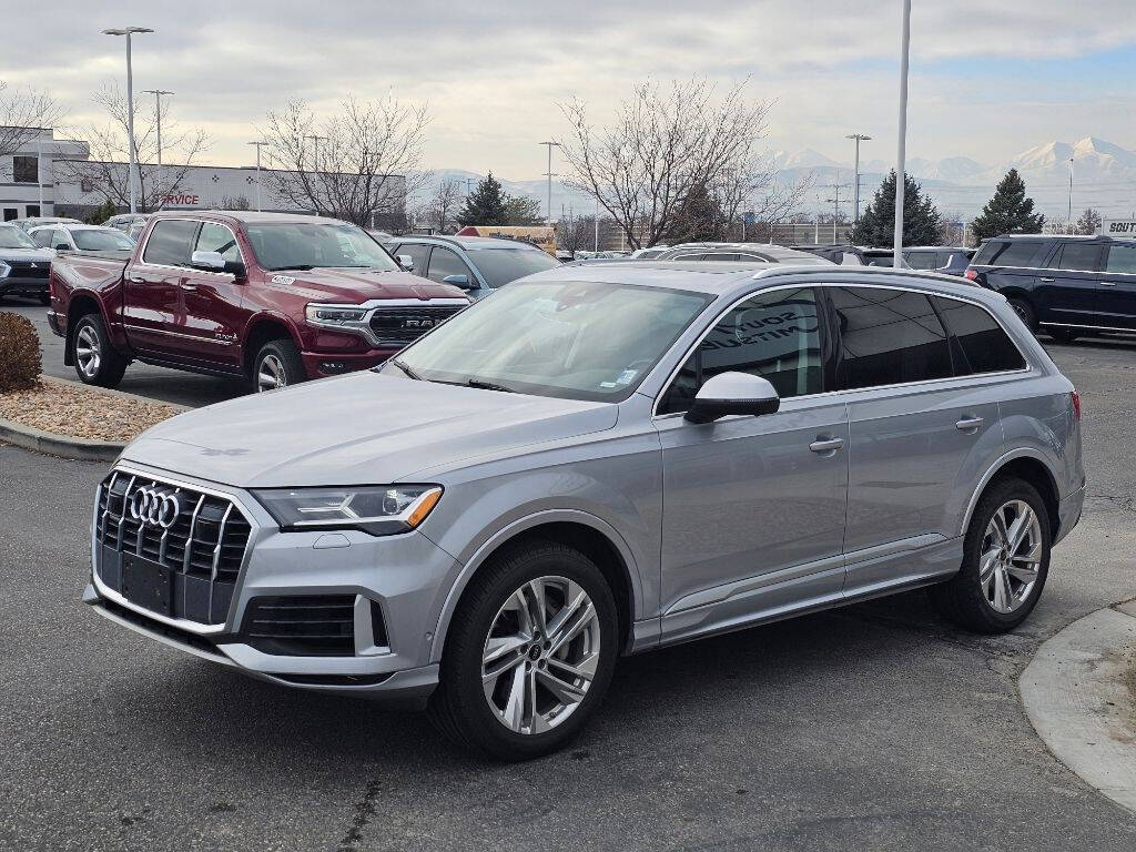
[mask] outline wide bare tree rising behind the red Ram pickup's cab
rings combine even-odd
[[[358,101],[318,119],[303,100],[269,112],[261,135],[276,172],[266,177],[284,204],[369,225],[404,216],[406,200],[429,178],[418,169],[429,112],[394,98]]]

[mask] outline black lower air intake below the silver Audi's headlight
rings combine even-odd
[[[353,657],[353,594],[253,598],[241,634],[266,654]]]

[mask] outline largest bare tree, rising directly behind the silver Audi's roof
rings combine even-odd
[[[571,124],[561,141],[569,185],[599,198],[633,248],[683,229],[676,223],[690,218],[687,204],[712,202],[722,227],[747,207],[792,208],[757,151],[769,107],[744,90],[742,83],[718,98],[699,78],[640,83],[599,130],[585,103],[561,105]]]

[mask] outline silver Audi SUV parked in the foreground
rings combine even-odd
[[[374,371],[147,432],[85,600],[529,758],[621,654],[922,585],[1013,629],[1080,517],[1079,420],[1005,299],[943,276],[565,267]]]

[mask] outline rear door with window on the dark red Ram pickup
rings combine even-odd
[[[160,219],[150,228],[139,262],[126,265],[123,324],[131,345],[179,358],[185,334],[182,283],[200,223]]]

